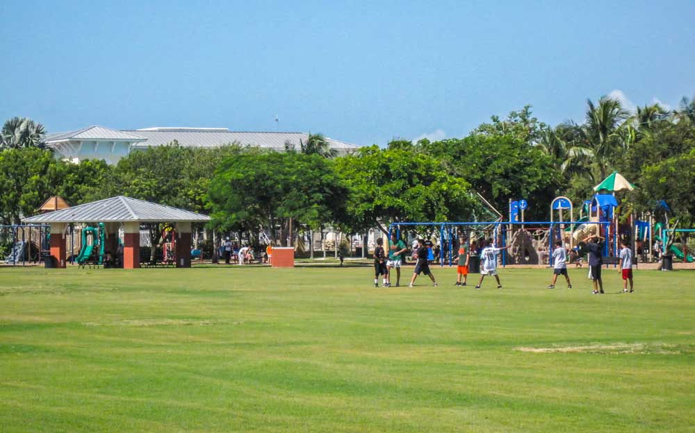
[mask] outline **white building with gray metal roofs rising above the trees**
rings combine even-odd
[[[90,126],[67,133],[49,134],[44,138],[54,149],[57,158],[80,162],[105,160],[115,164],[131,151],[149,146],[164,146],[176,140],[186,147],[219,147],[227,144],[258,146],[284,151],[285,144],[300,148],[306,142],[305,133],[234,132],[227,128],[145,128],[115,130],[103,126]],[[326,138],[339,155],[356,151],[359,146]]]

